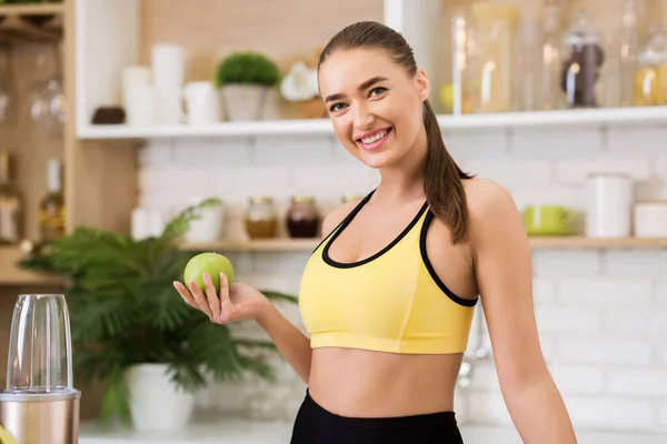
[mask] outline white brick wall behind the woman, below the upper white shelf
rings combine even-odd
[[[557,203],[586,209],[585,176],[626,172],[658,181],[667,196],[667,129],[618,127],[448,131],[446,144],[461,167],[506,185],[517,208]],[[250,194],[317,196],[322,211],[346,192],[378,182],[332,137],[156,141],[141,150],[140,202],[171,212],[195,196],[216,194],[228,205],[227,235],[242,238],[240,215]],[[233,254],[239,279],[296,293],[307,253]],[[534,301],[540,343],[577,428],[667,431],[667,251],[534,251]],[[299,327],[298,307],[280,305]],[[261,335],[251,324],[239,334]],[[477,333],[470,336],[475,344]],[[489,346],[486,329],[484,343]],[[257,381],[219,386],[202,405],[246,408],[261,391],[278,394],[290,418],[303,385],[285,364],[278,386]],[[492,361],[474,369],[457,397],[459,417],[509,424]]]

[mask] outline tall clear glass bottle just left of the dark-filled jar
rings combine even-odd
[[[544,38],[540,53],[538,109],[557,110],[560,107],[560,32],[561,11],[558,0],[545,4]]]

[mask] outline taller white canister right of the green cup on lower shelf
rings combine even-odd
[[[627,238],[631,233],[633,180],[621,173],[594,173],[586,181],[586,235]]]

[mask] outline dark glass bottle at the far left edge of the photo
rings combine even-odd
[[[23,202],[11,180],[10,155],[0,151],[0,244],[21,241]]]

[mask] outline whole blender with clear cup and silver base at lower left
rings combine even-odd
[[[0,441],[79,442],[69,312],[62,294],[21,294],[13,310],[7,387],[0,391]]]

